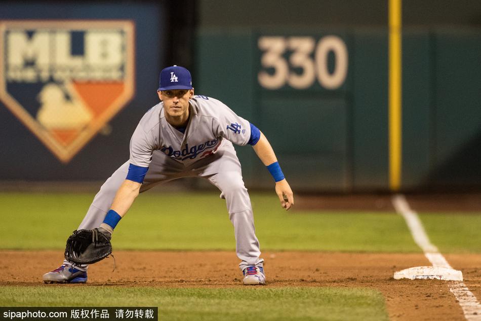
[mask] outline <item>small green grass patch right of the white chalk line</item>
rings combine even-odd
[[[441,253],[481,253],[479,213],[420,213],[431,243]]]

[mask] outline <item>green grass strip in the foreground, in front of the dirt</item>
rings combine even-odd
[[[158,306],[159,320],[388,320],[382,294],[357,288],[0,287],[0,306]]]

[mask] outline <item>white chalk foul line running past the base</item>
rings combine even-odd
[[[415,211],[409,207],[409,203],[404,195],[394,195],[392,197],[392,204],[405,220],[411,231],[416,244],[424,252],[426,258],[433,266],[446,267],[452,269],[446,258],[439,253],[439,250],[434,246],[424,230],[424,227]],[[481,321],[481,304],[476,299],[474,294],[466,287],[463,281],[449,281],[449,290],[454,294],[459,305],[463,309],[464,317],[468,321]]]

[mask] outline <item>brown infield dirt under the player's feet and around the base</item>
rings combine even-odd
[[[242,287],[233,252],[115,251],[89,268],[87,284],[44,284],[62,262],[59,251],[0,251],[2,286]],[[429,265],[423,254],[264,252],[267,287],[349,287],[380,291],[391,320],[464,320],[446,281],[394,280],[395,271]],[[446,255],[481,297],[481,255]]]

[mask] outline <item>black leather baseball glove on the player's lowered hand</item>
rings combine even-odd
[[[112,253],[111,234],[101,228],[75,230],[67,239],[65,259],[75,264],[92,264]]]

